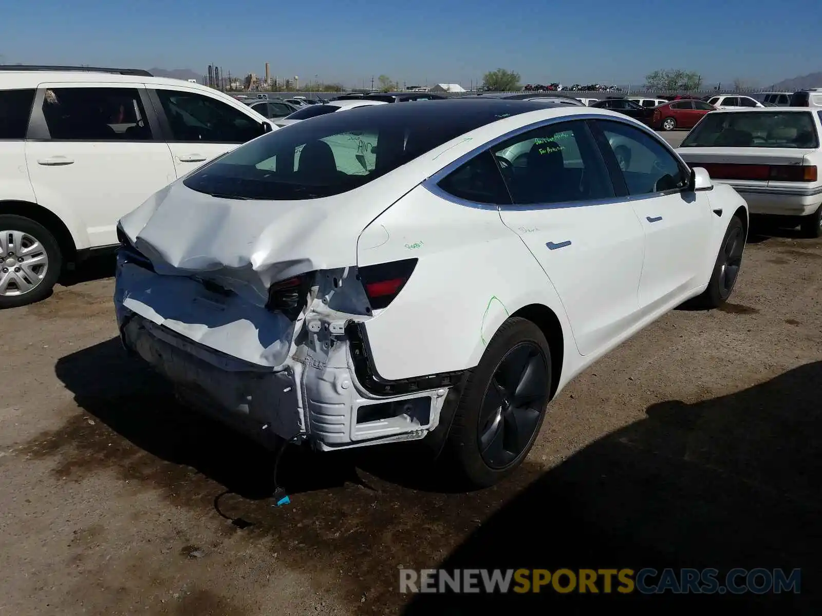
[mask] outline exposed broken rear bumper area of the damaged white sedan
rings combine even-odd
[[[333,337],[324,361],[294,352],[270,368],[205,347],[122,304],[117,308],[123,345],[175,384],[184,403],[265,445],[273,443],[269,430],[284,439],[308,434],[322,450],[422,439],[439,424],[447,385],[456,376],[386,385],[364,367],[367,357],[352,356],[352,347],[362,355],[366,344],[349,341],[350,328]],[[369,384],[364,387],[358,374]],[[372,393],[375,382],[382,395]]]

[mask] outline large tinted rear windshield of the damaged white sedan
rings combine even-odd
[[[194,191],[235,199],[338,195],[478,126],[537,108],[526,101],[442,100],[331,113],[242,145],[183,183]]]

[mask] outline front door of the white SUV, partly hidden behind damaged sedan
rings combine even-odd
[[[153,85],[148,92],[168,140],[177,177],[263,132],[255,116],[217,96]]]

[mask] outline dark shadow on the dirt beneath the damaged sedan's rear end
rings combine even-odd
[[[167,462],[194,467],[243,498],[267,499],[273,493],[275,451],[281,442],[266,448],[178,403],[173,388],[144,361],[129,355],[118,338],[60,358],[55,371],[78,406],[137,447]],[[351,482],[367,487],[358,475],[362,468],[417,490],[455,490],[440,473],[424,472],[432,462],[421,463],[418,453],[420,448],[412,444],[333,453],[289,446],[279,464],[277,484],[290,494]],[[413,464],[397,463],[412,457]]]

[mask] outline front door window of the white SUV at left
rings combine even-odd
[[[184,90],[156,90],[173,141],[245,143],[262,134],[259,122],[210,96]]]

